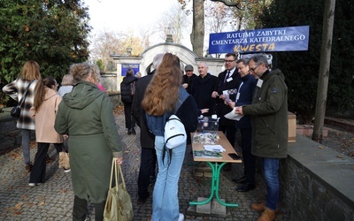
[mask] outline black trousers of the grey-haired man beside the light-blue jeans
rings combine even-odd
[[[156,169],[156,150],[142,149],[141,163],[138,177],[138,195],[139,197],[147,197],[148,187],[150,185],[150,176],[155,176]]]

